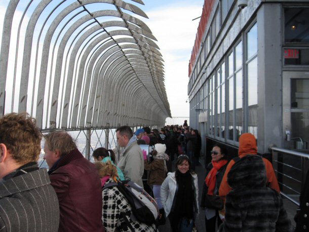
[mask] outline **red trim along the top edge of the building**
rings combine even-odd
[[[196,35],[194,47],[192,49],[191,58],[189,61],[189,77],[191,75],[193,65],[197,59],[199,49],[201,47],[201,41],[205,33],[205,29],[206,29],[208,19],[209,19],[209,16],[210,16],[210,13],[213,7],[213,3],[214,3],[214,0],[205,0],[204,2],[202,16],[201,16],[201,20],[200,20],[199,27],[198,27],[198,32]]]

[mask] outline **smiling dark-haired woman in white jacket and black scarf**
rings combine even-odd
[[[199,213],[198,175],[191,170],[187,156],[181,154],[176,171],[169,172],[161,185],[161,201],[173,232],[192,231]]]

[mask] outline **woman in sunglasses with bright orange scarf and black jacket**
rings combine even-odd
[[[214,145],[211,157],[212,161],[206,168],[201,200],[201,207],[205,210],[206,232],[216,231],[216,221],[218,226],[222,223],[218,210],[223,208],[223,201],[218,191],[228,163],[226,151],[220,144]]]

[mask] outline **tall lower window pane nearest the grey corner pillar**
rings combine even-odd
[[[248,132],[257,138],[257,58],[248,64]]]

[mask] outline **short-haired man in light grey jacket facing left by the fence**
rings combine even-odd
[[[125,147],[118,167],[124,173],[126,180],[131,180],[143,187],[144,158],[140,146],[129,126],[122,126],[116,130],[119,146]]]

